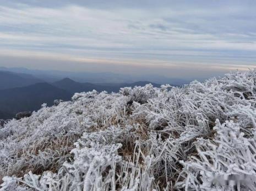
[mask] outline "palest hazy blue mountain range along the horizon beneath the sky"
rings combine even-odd
[[[172,84],[181,86],[189,83],[194,79],[186,76],[182,78],[166,77],[163,75],[129,75],[129,74],[116,74],[113,72],[88,72],[88,71],[61,71],[61,70],[30,70],[26,68],[6,68],[1,67],[0,70],[11,71],[16,73],[30,74],[36,78],[40,78],[45,82],[55,82],[63,78],[71,78],[77,82],[89,83],[133,83],[138,81],[150,81],[159,84]],[[202,79],[197,79],[202,80]],[[203,79],[204,80],[204,79]]]

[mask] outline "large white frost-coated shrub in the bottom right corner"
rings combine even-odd
[[[180,186],[187,190],[233,190],[236,180],[238,190],[256,190],[255,132],[245,138],[237,123],[221,125],[219,120],[214,130],[213,140],[198,138],[195,142],[198,156],[181,161],[181,177],[186,181]]]

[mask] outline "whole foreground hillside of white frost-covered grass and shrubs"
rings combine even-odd
[[[76,93],[0,129],[0,190],[256,190],[256,71]]]

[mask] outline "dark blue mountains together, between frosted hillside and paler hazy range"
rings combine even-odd
[[[20,111],[40,109],[43,103],[53,105],[53,100],[70,100],[76,92],[118,92],[122,87],[145,86],[149,81],[134,83],[81,83],[70,78],[47,83],[28,74],[0,71],[0,119],[11,119]],[[151,83],[160,87],[157,83]]]

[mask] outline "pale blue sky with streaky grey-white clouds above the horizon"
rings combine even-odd
[[[254,0],[0,2],[0,66],[181,78],[256,66]]]

